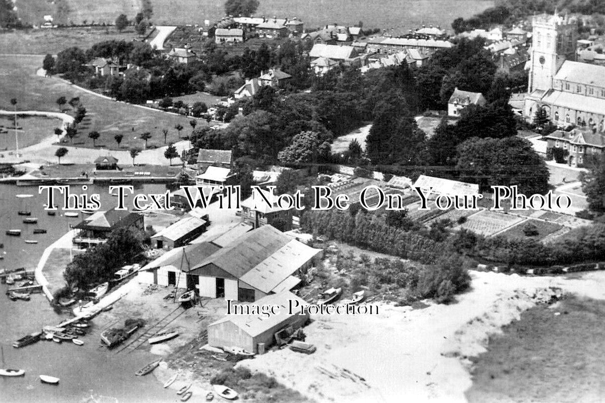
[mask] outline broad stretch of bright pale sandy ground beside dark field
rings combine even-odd
[[[473,289],[449,306],[381,305],[373,316],[315,316],[313,355],[290,350],[241,362],[318,402],[465,402],[470,356],[520,313],[563,292],[605,298],[605,273],[578,280],[471,272]],[[361,379],[363,378],[363,380]]]

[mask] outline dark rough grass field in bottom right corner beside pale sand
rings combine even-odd
[[[468,401],[601,401],[604,319],[604,301],[575,297],[522,313],[476,359]]]

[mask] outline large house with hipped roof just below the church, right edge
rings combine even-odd
[[[605,154],[605,134],[593,133],[592,129],[556,130],[545,137],[547,149],[560,148],[569,153],[565,159],[571,166],[582,165],[590,156],[601,157]]]

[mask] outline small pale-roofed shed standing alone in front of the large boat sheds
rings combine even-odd
[[[262,354],[275,342],[275,333],[281,329],[296,330],[309,320],[309,313],[289,312],[290,301],[307,303],[289,291],[267,295],[255,305],[278,306],[277,315],[225,315],[208,325],[208,344],[213,347],[240,347],[251,353]]]

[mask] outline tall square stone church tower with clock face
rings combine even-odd
[[[538,15],[532,19],[532,47],[528,93],[550,90],[552,80],[564,61],[575,61],[578,39],[575,19]]]

